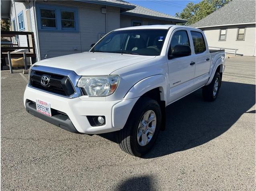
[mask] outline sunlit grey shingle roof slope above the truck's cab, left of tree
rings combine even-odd
[[[133,5],[136,6],[134,9],[123,12],[122,14],[131,14],[131,15],[136,14],[137,16],[142,16],[142,17],[143,16],[152,16],[152,17],[159,18],[159,19],[162,18],[163,20],[176,20],[177,22],[181,22],[181,23],[186,22],[186,20],[184,20],[184,19],[176,18],[174,16],[171,16],[171,15],[168,15],[165,13],[161,13],[158,11],[154,11],[154,10],[151,10],[151,9],[148,9],[148,8],[145,8],[142,6],[138,6],[135,4],[133,4]]]

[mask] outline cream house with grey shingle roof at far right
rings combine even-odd
[[[204,31],[211,47],[256,56],[255,0],[232,0],[192,26]]]

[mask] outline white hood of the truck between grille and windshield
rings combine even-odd
[[[83,52],[36,62],[35,65],[72,70],[80,76],[109,75],[115,70],[156,56]]]

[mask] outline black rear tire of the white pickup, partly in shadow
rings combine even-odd
[[[216,94],[214,95],[214,84],[217,79],[218,79],[218,89],[216,91]],[[212,79],[212,82],[208,86],[204,86],[202,88],[202,95],[205,101],[214,101],[217,98],[220,90],[220,84],[221,84],[220,73],[216,72]]]

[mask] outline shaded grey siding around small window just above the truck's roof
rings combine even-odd
[[[172,21],[164,21],[164,20],[154,20],[154,19],[148,19],[148,18],[142,18],[142,17],[136,17],[136,16],[127,16],[122,15],[120,16],[120,27],[130,27],[132,26],[132,20],[140,20],[142,21],[142,25],[151,25],[151,24],[175,24],[172,23]]]

